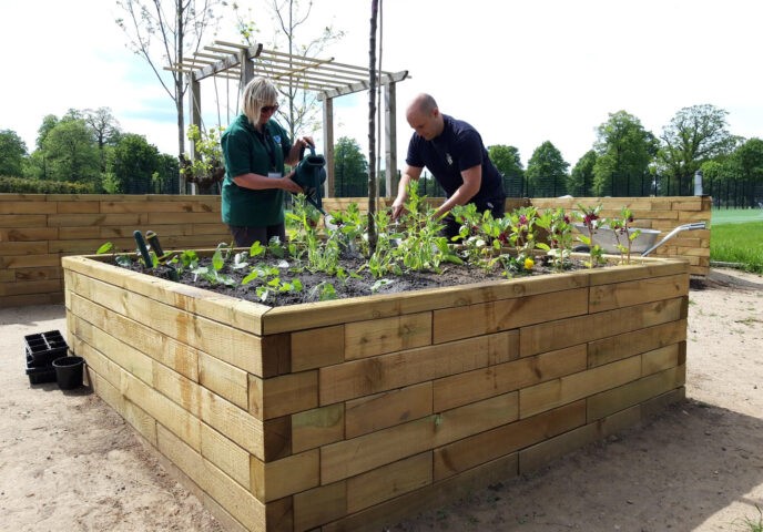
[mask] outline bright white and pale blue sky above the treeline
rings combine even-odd
[[[242,4],[268,30],[262,0]],[[383,0],[382,7],[383,68],[411,75],[397,90],[400,163],[410,135],[405,106],[418,92],[475,125],[486,144],[517,146],[525,164],[551,141],[573,165],[597,126],[620,110],[659,135],[681,108],[710,103],[729,111],[731,133],[763,137],[760,0]],[[114,23],[120,13],[110,0],[0,0],[0,130],[19,133],[31,151],[44,115],[108,106],[124,131],[174,154],[173,102],[125,48]],[[369,14],[370,1],[315,0],[311,22],[346,31],[322,57],[367,64]],[[232,27],[217,38],[237,40]],[[202,91],[214,125],[214,88]],[[367,95],[337,101],[335,112],[335,137],[354,137],[366,150]]]

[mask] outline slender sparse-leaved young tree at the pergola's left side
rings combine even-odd
[[[220,20],[215,10],[222,3],[223,0],[174,0],[172,3],[169,0],[116,2],[128,14],[126,19],[116,19],[116,24],[130,39],[133,52],[145,59],[175,103],[179,157],[185,152],[183,98],[189,83],[181,71],[167,72],[163,68],[182,63],[186,55],[201,48],[205,32],[211,27],[216,27]]]

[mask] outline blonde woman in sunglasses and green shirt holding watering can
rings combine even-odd
[[[285,242],[284,192],[303,192],[292,181],[294,171],[284,175],[284,166],[296,164],[314,142],[303,136],[292,145],[288,133],[273,120],[277,98],[271,81],[253,79],[244,88],[243,113],[221,139],[225,158],[222,216],[237,247],[255,242],[267,245],[274,236]]]

